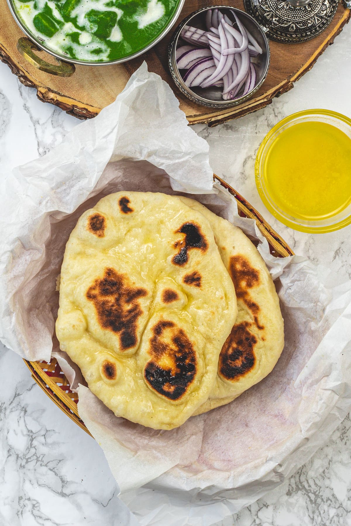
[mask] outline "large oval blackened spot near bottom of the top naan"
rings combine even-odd
[[[179,400],[189,391],[197,360],[192,342],[173,321],[161,320],[152,329],[144,380],[154,391],[169,400]]]

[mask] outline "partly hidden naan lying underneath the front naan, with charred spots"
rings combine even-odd
[[[222,406],[265,378],[284,347],[284,321],[266,264],[240,228],[186,197],[208,220],[235,286],[238,316],[218,361],[216,383],[195,414]]]

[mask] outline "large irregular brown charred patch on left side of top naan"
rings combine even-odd
[[[122,350],[137,345],[137,321],[143,310],[138,299],[147,296],[147,290],[133,287],[128,276],[113,268],[105,268],[104,276],[95,279],[86,297],[93,301],[97,319],[103,329],[118,333]]]

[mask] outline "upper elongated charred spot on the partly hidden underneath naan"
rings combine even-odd
[[[241,255],[230,257],[229,273],[232,277],[236,297],[242,299],[246,307],[252,312],[257,329],[263,330],[264,326],[258,321],[259,305],[250,297],[249,289],[260,285],[259,272],[253,268],[249,261]]]

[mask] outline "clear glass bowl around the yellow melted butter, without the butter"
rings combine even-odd
[[[329,214],[320,219],[307,220],[302,216],[294,217],[291,215],[289,210],[284,209],[281,205],[278,205],[272,195],[272,190],[269,191],[266,178],[266,161],[268,155],[272,151],[277,137],[286,129],[294,126],[295,124],[304,122],[322,122],[335,126],[337,129],[343,131],[343,133],[351,139],[351,119],[345,115],[332,112],[326,109],[311,109],[304,112],[294,113],[289,117],[281,120],[276,124],[263,139],[262,143],[257,152],[256,163],[255,163],[255,179],[256,186],[260,198],[263,200],[264,205],[270,213],[275,216],[284,225],[299,230],[301,232],[313,232],[315,234],[324,234],[325,232],[332,232],[339,230],[351,223],[351,185],[349,188],[349,203],[335,215]],[[322,148],[322,145],[321,145]],[[298,162],[298,151],[296,152],[296,161]],[[350,167],[351,170],[351,167]],[[284,176],[284,175],[283,175]],[[347,198],[348,196],[346,196]]]

